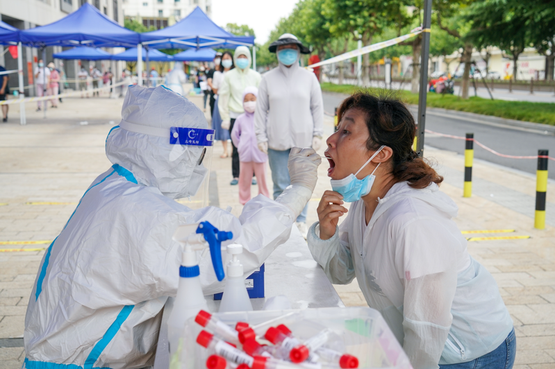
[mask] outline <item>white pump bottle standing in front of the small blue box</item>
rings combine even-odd
[[[227,252],[231,255],[231,261],[226,265],[226,287],[219,305],[219,312],[228,311],[252,311],[251,299],[245,286],[243,277],[243,266],[238,255],[243,252],[243,247],[237,244],[227,246]]]

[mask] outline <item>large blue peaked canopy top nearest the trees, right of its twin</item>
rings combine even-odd
[[[173,26],[158,31],[141,33],[144,46],[156,49],[187,49],[194,47],[230,47],[239,45],[253,46],[254,36],[235,36],[217,26],[197,6],[187,17]],[[225,45],[225,46],[224,46]]]

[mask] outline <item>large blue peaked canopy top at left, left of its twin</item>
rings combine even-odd
[[[95,46],[133,47],[140,35],[103,15],[97,8],[84,3],[81,8],[57,22],[19,31],[27,46]]]

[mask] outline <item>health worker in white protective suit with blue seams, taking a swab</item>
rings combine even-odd
[[[113,166],[85,191],[42,259],[25,317],[24,368],[152,366],[163,307],[179,282],[179,225],[209,221],[233,232],[227,243],[245,246],[245,277],[288,239],[320,157],[292,151],[292,186],[276,200],[256,196],[239,218],[217,207],[192,210],[174,199],[194,196],[208,174],[207,128],[204,113],[179,94],[129,87],[122,121],[106,139]],[[206,295],[223,291],[209,253],[200,271]]]

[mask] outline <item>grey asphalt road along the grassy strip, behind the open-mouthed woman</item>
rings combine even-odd
[[[333,109],[345,98],[343,95],[329,93],[324,93],[323,96],[324,110],[330,114],[333,114]],[[538,155],[538,149],[547,149],[549,156],[555,157],[555,136],[553,135],[542,135],[509,127],[487,126],[466,121],[463,117],[457,117],[456,113],[453,117],[440,117],[430,112],[426,116],[426,129],[461,137],[464,137],[467,132],[472,132],[474,139],[502,154]],[[426,134],[424,141],[426,145],[456,151],[459,154],[463,154],[465,149],[465,141],[460,139]],[[536,175],[537,160],[499,157],[477,145],[474,145],[474,157]],[[549,166],[551,169],[549,178],[555,180],[555,162],[549,160]]]

